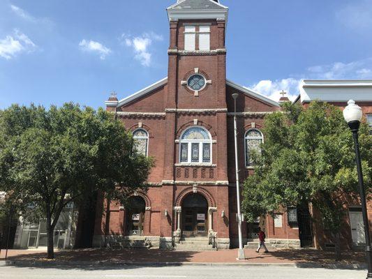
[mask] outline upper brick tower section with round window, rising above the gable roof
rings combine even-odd
[[[225,108],[228,8],[218,0],[178,0],[167,12],[168,106]]]

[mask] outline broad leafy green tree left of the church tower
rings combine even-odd
[[[66,103],[50,110],[12,105],[0,112],[0,190],[30,219],[46,218],[49,259],[68,202],[96,190],[125,202],[146,188],[153,162],[134,146],[131,133],[102,109]]]

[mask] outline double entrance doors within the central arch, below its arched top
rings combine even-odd
[[[191,236],[208,236],[206,208],[183,208],[183,232],[186,237]]]

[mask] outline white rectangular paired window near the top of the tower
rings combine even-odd
[[[198,31],[197,31],[198,29]],[[198,36],[199,50],[211,49],[211,27],[209,25],[185,26],[185,50],[196,50]]]

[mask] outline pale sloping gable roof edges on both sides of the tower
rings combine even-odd
[[[137,92],[133,93],[132,95],[130,95],[130,96],[124,98],[124,99],[121,99],[119,101],[107,100],[105,102],[105,105],[107,105],[107,107],[121,107],[123,105],[127,105],[128,103],[131,103],[131,102],[133,102],[133,101],[135,101],[139,98],[142,98],[142,97],[146,96],[147,94],[151,93],[155,89],[158,89],[159,87],[164,86],[167,83],[168,83],[168,77],[165,77],[165,78],[163,78],[163,80],[159,80],[158,82],[155,82],[154,84],[151,84],[150,86],[147,86],[146,88],[141,89],[140,91],[137,91]],[[262,95],[261,93],[255,92],[255,91],[253,91],[251,89],[248,89],[244,86],[236,84],[235,82],[232,82],[230,80],[226,80],[226,84],[228,86],[232,86],[233,88],[241,91],[242,93],[246,94],[246,96],[250,96],[250,97],[256,98],[258,100],[262,100],[262,102],[269,103],[270,105],[280,107],[279,103],[277,103],[276,101],[272,100],[271,98],[269,98],[265,95]]]

